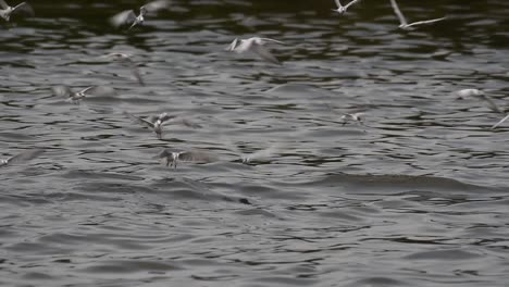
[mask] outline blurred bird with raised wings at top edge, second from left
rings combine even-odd
[[[156,0],[156,1],[149,2],[140,7],[138,15],[136,15],[133,10],[125,10],[110,17],[110,23],[116,28],[124,26],[124,25],[129,25],[128,29],[132,29],[134,26],[142,24],[145,22],[145,16],[149,12],[157,12],[162,9],[167,9],[169,7],[170,7],[170,1]]]

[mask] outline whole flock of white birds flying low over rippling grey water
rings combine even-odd
[[[360,2],[361,0],[352,0],[348,4],[343,5],[340,0],[334,0],[337,9],[333,9],[333,11],[337,12],[338,14],[345,14],[347,10],[352,7],[353,4]],[[425,24],[433,24],[439,21],[445,20],[446,17],[433,18],[433,20],[425,20],[425,21],[418,21],[413,23],[409,23],[405,15],[401,13],[401,10],[398,7],[396,0],[389,0],[390,5],[394,10],[394,13],[398,17],[400,25],[399,28],[405,30],[413,29],[415,26],[425,25]],[[32,7],[26,3],[22,2],[16,4],[15,7],[10,7],[5,3],[4,0],[0,0],[0,17],[5,21],[10,21],[12,15],[16,14],[25,14],[25,15],[34,15],[34,10]],[[139,13],[136,13],[133,10],[122,11],[110,18],[111,25],[116,28],[126,28],[131,30],[138,25],[141,25],[145,22],[145,17],[149,15],[149,13],[156,13],[160,10],[170,9],[170,1],[169,0],[156,0],[146,3],[145,5],[139,8]],[[277,43],[277,45],[285,45],[283,41],[278,41],[275,39],[270,38],[262,38],[262,37],[252,37],[248,39],[238,39],[235,38],[232,43],[225,49],[226,51],[236,52],[236,53],[246,53],[251,52],[257,54],[263,61],[281,65],[281,62],[271,53],[271,51],[265,47],[268,43]],[[132,60],[129,54],[125,53],[109,53],[103,55],[107,59],[112,61],[117,61],[125,64],[131,71],[133,76],[136,78],[139,85],[145,86],[145,82],[141,77],[141,74],[138,71],[137,64]],[[108,93],[114,92],[113,89],[108,89],[104,87],[97,87],[90,86],[78,91],[73,91],[70,87],[66,86],[57,86],[52,88],[53,93],[60,97],[66,97],[67,101],[72,101],[74,103],[79,103],[80,100],[86,98],[89,95],[97,95],[97,93]],[[458,97],[479,97],[480,99],[486,101],[489,105],[489,109],[494,112],[500,113],[504,115],[504,118],[500,120],[498,123],[492,126],[492,128],[496,128],[501,125],[505,121],[509,118],[509,114],[507,114],[502,109],[500,109],[494,101],[491,99],[485,92],[479,89],[463,89],[456,92]],[[152,115],[149,117],[140,117],[137,115],[129,114],[124,112],[124,114],[138,122],[141,125],[147,126],[148,128],[152,129],[158,139],[162,139],[163,137],[163,126],[170,124],[182,124],[188,127],[197,128],[200,127],[198,124],[191,123],[186,118],[179,118],[178,116],[170,115],[167,113],[161,113],[159,115]],[[362,124],[364,113],[347,113],[342,115],[339,118],[343,122],[343,125],[347,124],[348,122],[357,122]],[[270,147],[269,149],[260,150],[252,154],[243,155],[241,161],[243,163],[249,163],[253,160],[268,158],[273,154],[277,150],[277,147]],[[0,166],[13,164],[22,161],[32,160],[39,154],[41,154],[44,150],[41,149],[33,149],[27,150],[25,152],[15,154],[9,159],[0,160]],[[209,154],[204,151],[198,150],[172,150],[172,149],[163,149],[159,152],[154,158],[159,160],[165,160],[166,165],[172,165],[173,167],[177,166],[177,161],[198,161],[198,162],[210,162],[214,161],[215,157]]]

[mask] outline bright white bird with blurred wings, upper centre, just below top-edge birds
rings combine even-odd
[[[247,51],[258,54],[262,60],[281,65],[281,62],[264,47],[268,42],[275,42],[284,45],[284,42],[270,39],[270,38],[260,38],[252,37],[249,39],[238,39],[235,38],[233,42],[226,48],[226,51],[244,53]]]

